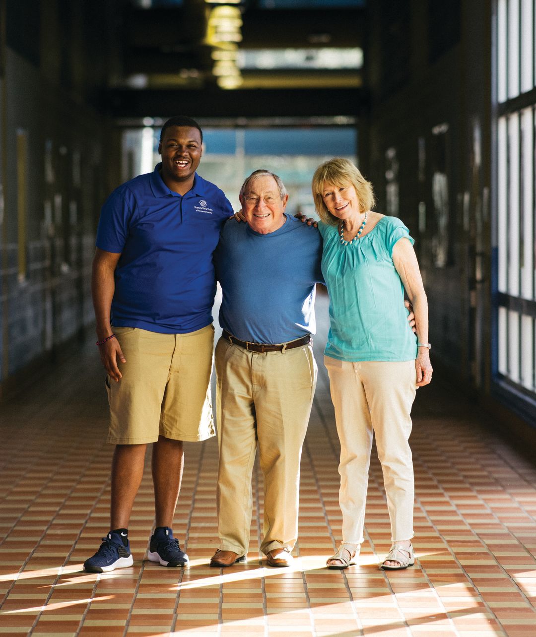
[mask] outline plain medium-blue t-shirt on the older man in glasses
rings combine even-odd
[[[285,215],[273,233],[229,220],[214,253],[223,290],[220,325],[243,341],[286,343],[315,333],[315,283],[322,282],[317,229]]]

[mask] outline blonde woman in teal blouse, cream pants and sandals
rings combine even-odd
[[[327,566],[355,564],[363,542],[374,434],[393,543],[380,567],[407,568],[415,562],[410,411],[416,387],[427,385],[432,373],[428,303],[414,240],[400,219],[371,210],[372,185],[346,159],[319,166],[312,190],[330,294],[324,364],[341,445],[342,545]],[[404,290],[413,304],[417,334],[407,322]]]

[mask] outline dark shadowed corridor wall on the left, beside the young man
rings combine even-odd
[[[3,390],[20,382],[17,374],[28,373],[30,363],[59,354],[92,320],[94,232],[118,146],[99,103],[112,72],[111,5],[0,5]]]

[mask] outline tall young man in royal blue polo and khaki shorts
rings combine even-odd
[[[148,558],[163,566],[188,561],[171,526],[182,442],[215,434],[212,253],[233,214],[222,190],[196,174],[202,142],[191,118],[168,120],[162,162],[114,190],[101,212],[92,294],[115,452],[110,531],[84,563],[92,573],[133,564],[127,529],[148,443],[156,512]]]

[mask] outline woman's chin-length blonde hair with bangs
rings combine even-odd
[[[312,182],[315,208],[321,220],[326,224],[337,225],[339,222],[338,218],[331,214],[324,203],[322,191],[326,183],[338,187],[352,185],[356,189],[361,212],[370,210],[375,204],[372,183],[367,182],[357,166],[354,166],[351,161],[342,157],[334,157],[330,161],[320,164],[315,170]]]

